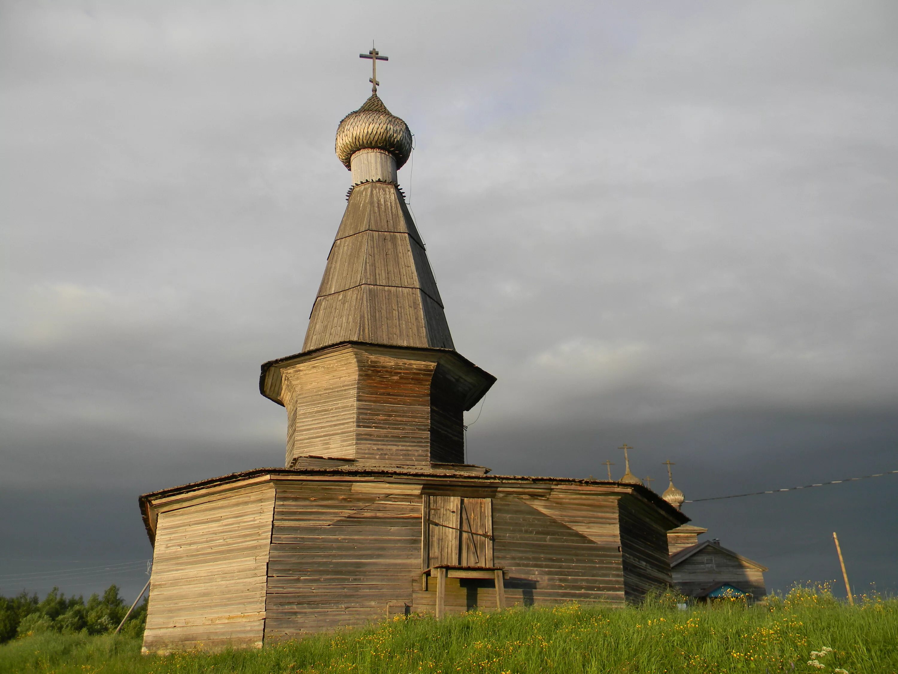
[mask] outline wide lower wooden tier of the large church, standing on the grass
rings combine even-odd
[[[685,519],[639,486],[333,468],[251,471],[142,505],[156,545],[145,649],[163,652],[436,612],[422,572],[440,565],[445,613],[621,606],[664,586],[659,541]],[[634,518],[652,532],[642,542]]]

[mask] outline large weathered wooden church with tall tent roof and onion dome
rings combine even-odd
[[[285,467],[140,497],[145,652],[411,612],[621,607],[672,581],[667,532],[688,518],[638,481],[465,464],[462,414],[495,377],[455,350],[397,182],[411,133],[372,81],[337,130],[352,184],[303,350],[261,368],[261,394],[286,408]]]

